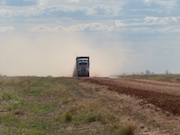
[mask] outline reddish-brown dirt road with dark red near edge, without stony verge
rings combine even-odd
[[[110,91],[144,99],[174,115],[180,115],[180,84],[142,79],[84,78]]]

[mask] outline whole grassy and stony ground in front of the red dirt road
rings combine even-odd
[[[178,134],[179,116],[117,91],[124,87],[95,82],[119,83],[107,79],[0,77],[0,134]]]

